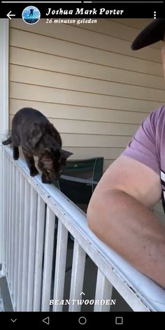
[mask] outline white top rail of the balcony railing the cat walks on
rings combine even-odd
[[[12,157],[12,149],[2,146],[8,154],[11,162],[19,168],[28,182],[36,189],[37,193],[43,198],[45,203],[57,214],[66,228],[76,238],[82,248],[93,259],[102,273],[108,278],[112,285],[120,292],[123,298],[129,296],[134,300],[131,304],[130,299],[125,299],[130,306],[138,310],[165,310],[165,290],[159,287],[142,273],[136,271],[127,261],[125,261],[115,251],[101,242],[92,231],[87,227],[85,213],[67,199],[62,192],[59,192],[53,185],[43,184],[41,175],[31,178],[29,169],[23,159],[17,162]],[[129,300],[129,301],[128,301]],[[143,308],[142,308],[143,306]]]

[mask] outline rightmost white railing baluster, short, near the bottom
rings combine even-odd
[[[101,273],[101,271],[98,269],[97,272],[97,279],[96,279],[96,295],[95,295],[95,301],[99,300],[110,300],[112,297],[113,292],[113,285],[108,282],[106,277]],[[94,312],[109,312],[110,311],[110,305],[101,303],[96,304],[94,306]]]

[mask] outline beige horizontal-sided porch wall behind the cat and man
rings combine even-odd
[[[130,48],[149,21],[11,20],[10,120],[24,106],[41,110],[74,159],[102,156],[106,169],[165,101],[161,44]]]

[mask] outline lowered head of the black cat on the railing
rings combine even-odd
[[[43,183],[51,183],[59,179],[66,167],[66,159],[72,152],[54,148],[45,148],[38,157],[38,168],[42,171]]]

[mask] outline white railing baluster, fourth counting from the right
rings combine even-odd
[[[42,307],[43,312],[50,310],[50,292],[52,282],[52,257],[55,234],[55,214],[47,207],[46,212],[46,230],[45,230],[45,252],[44,252],[44,268],[43,268],[43,296]]]

